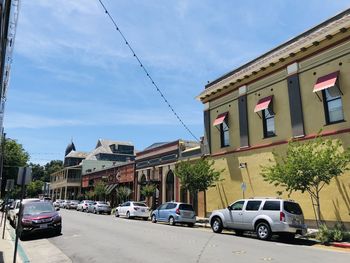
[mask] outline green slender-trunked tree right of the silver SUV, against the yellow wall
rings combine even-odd
[[[340,140],[329,140],[317,136],[308,142],[290,142],[285,157],[270,166],[262,167],[264,180],[281,186],[289,193],[301,191],[309,193],[316,204],[316,221],[321,221],[320,192],[332,178],[340,176],[348,169],[350,150],[343,149]],[[277,192],[282,194],[281,191]]]

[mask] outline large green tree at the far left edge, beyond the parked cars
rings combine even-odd
[[[18,174],[18,167],[26,166],[29,160],[29,154],[24,150],[22,144],[16,140],[5,139],[4,141],[4,160],[1,194],[4,195],[7,179],[15,179]]]

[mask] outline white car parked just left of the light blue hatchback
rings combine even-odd
[[[115,209],[115,216],[125,216],[126,218],[139,217],[148,220],[150,208],[142,202],[128,201],[120,204]]]

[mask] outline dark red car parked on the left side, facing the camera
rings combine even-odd
[[[23,205],[22,220],[19,224],[20,238],[34,232],[52,232],[59,235],[62,218],[51,202],[30,202]]]

